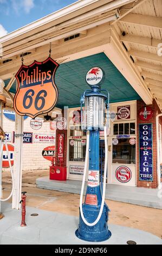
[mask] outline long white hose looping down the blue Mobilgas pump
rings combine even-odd
[[[104,166],[104,175],[103,175],[103,191],[102,191],[102,201],[101,201],[101,208],[98,217],[96,220],[92,223],[89,223],[86,221],[85,216],[83,215],[83,209],[82,209],[82,198],[83,198],[83,191],[85,186],[85,180],[86,180],[86,173],[87,173],[87,163],[88,163],[88,155],[89,155],[89,132],[87,133],[87,145],[86,145],[86,158],[85,158],[85,168],[83,172],[83,180],[82,180],[82,187],[81,187],[81,194],[80,194],[80,214],[82,217],[83,222],[85,222],[86,225],[89,227],[92,227],[96,225],[102,215],[103,206],[105,203],[105,191],[106,191],[106,174],[107,174],[107,136],[106,136],[106,126],[104,126],[104,139],[105,139],[105,166]]]

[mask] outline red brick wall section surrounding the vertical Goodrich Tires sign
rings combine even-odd
[[[152,105],[148,105],[153,110],[152,118],[148,121],[143,121],[139,118],[138,112],[141,107],[144,107],[145,102],[140,100],[137,101],[137,186],[138,187],[147,187],[147,188],[157,188],[158,186],[158,178],[157,178],[157,148],[156,148],[156,125],[155,125],[155,117],[157,114],[160,113],[160,109],[153,100]],[[162,119],[160,119],[160,122],[162,123]],[[144,123],[152,123],[152,133],[153,133],[153,181],[140,181],[139,180],[139,124]]]

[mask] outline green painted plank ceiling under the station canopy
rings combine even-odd
[[[93,66],[100,66],[105,71],[105,81],[101,88],[109,91],[111,103],[140,99],[140,96],[105,53],[98,53],[60,65],[55,76],[55,82],[59,89],[57,107],[80,106],[81,94],[89,88],[85,82],[85,76]],[[7,85],[8,82],[9,80],[6,80],[5,84]],[[12,85],[10,92],[15,93],[15,90],[16,82]]]

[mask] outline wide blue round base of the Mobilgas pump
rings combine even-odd
[[[93,223],[96,220],[100,211],[100,208],[98,206],[87,204],[83,204],[82,209],[83,215],[85,216],[86,221],[89,223]],[[99,222],[92,227],[85,224],[80,215],[79,228],[75,231],[75,235],[79,239],[89,242],[102,242],[109,239],[109,237],[111,237],[112,234],[111,231],[108,230],[107,225],[108,211],[108,206],[104,204],[102,215]]]

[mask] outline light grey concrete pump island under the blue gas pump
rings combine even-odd
[[[0,221],[1,245],[93,245],[75,236],[79,218],[59,212],[45,211],[27,206],[27,227],[20,227],[21,211],[11,210],[11,204],[3,203],[4,218]],[[31,214],[38,216],[32,217]],[[133,240],[137,245],[162,245],[162,240],[145,231],[109,224],[110,239],[98,245],[126,245]]]

